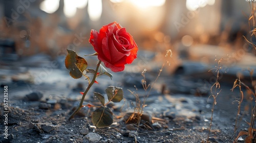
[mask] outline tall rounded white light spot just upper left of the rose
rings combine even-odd
[[[89,0],[88,1],[88,14],[92,21],[99,20],[102,13],[102,1],[101,0]]]

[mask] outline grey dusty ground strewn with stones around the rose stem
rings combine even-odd
[[[91,96],[93,91],[104,91],[108,85],[121,85],[125,102],[112,103],[110,107],[114,113],[114,123],[109,128],[96,129],[90,117],[93,108],[84,108],[71,121],[67,120],[81,98],[79,92],[86,87],[84,79],[72,79],[61,66],[47,68],[50,60],[39,59],[38,62],[37,66],[32,63],[26,65],[26,60],[19,66],[16,66],[18,62],[2,63],[1,92],[6,85],[9,91],[8,139],[4,138],[2,130],[5,129],[4,105],[0,106],[2,142],[201,142],[207,138],[213,99],[208,100],[209,85],[205,80],[209,81],[214,75],[208,74],[205,69],[187,73],[186,68],[182,68],[182,74],[160,76],[144,109],[144,114],[152,118],[153,124],[141,124],[138,130],[137,126],[125,125],[121,117],[133,110],[131,103],[135,102],[127,89],[135,91],[133,85],[136,85],[140,99],[143,100],[145,96],[143,88],[139,86],[142,79],[140,73],[124,71],[125,76],[116,74],[113,81],[108,77],[100,77],[100,86],[95,85],[85,101],[97,104]],[[48,71],[47,76],[44,76],[43,71]],[[22,77],[28,77],[26,79],[32,75],[34,81],[37,79],[38,82],[29,83],[25,79],[13,81],[11,77],[21,73]],[[148,71],[147,74],[148,81],[154,81],[157,76],[155,71]],[[133,75],[133,78],[130,79],[129,75]],[[228,78],[225,79],[225,76]],[[120,80],[123,77],[126,79]],[[224,75],[221,80],[222,91],[217,98],[210,132],[212,142],[232,142],[230,139],[233,138],[237,112],[237,103],[232,102],[239,97],[239,91],[230,91],[234,81],[231,79],[235,80],[236,75]],[[32,92],[42,93],[42,98],[38,94],[26,96]],[[238,131],[248,128],[246,122],[249,122],[250,114],[244,112],[244,105],[241,108],[243,115],[239,116]]]

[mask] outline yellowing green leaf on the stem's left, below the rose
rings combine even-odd
[[[87,68],[86,59],[78,56],[75,51],[67,50],[68,55],[65,59],[65,66],[70,70],[70,76],[74,79],[79,79],[82,77],[82,72]]]

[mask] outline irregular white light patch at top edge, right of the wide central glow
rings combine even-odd
[[[195,11],[198,8],[205,7],[206,5],[214,5],[215,0],[187,0],[186,1],[186,7],[190,11]]]

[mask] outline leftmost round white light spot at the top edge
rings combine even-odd
[[[59,8],[59,0],[45,0],[40,4],[40,9],[47,13],[54,13]]]

